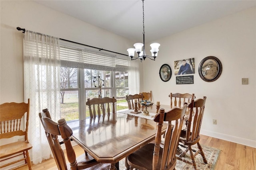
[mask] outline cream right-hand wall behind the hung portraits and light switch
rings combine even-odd
[[[152,90],[154,101],[161,104],[170,103],[170,92],[207,96],[201,133],[256,147],[255,14],[256,8],[251,8],[156,41],[161,44],[156,61],[144,62],[144,91]],[[217,57],[223,66],[214,82],[205,82],[198,74],[198,65],[207,56]],[[195,58],[194,84],[176,85],[174,61],[189,58]],[[159,77],[162,64],[172,68],[168,82]],[[249,84],[242,85],[242,78]]]

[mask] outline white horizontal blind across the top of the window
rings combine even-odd
[[[128,71],[128,57],[100,53],[73,45],[60,45],[61,66],[105,71]]]

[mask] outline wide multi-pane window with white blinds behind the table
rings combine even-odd
[[[61,118],[67,121],[89,118],[88,98],[112,97],[116,110],[127,109],[128,57],[84,49],[84,46],[62,42]]]

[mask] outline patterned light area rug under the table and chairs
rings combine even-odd
[[[197,145],[194,145],[192,147],[192,149],[193,148],[197,149]],[[214,170],[216,162],[217,162],[219,154],[220,154],[220,150],[216,149],[216,148],[207,147],[207,146],[204,146],[204,145],[202,145],[202,149],[204,150],[204,155],[207,159],[208,164],[204,163],[201,154],[197,154],[196,157],[195,157],[196,168],[198,170]],[[183,158],[186,159],[186,160],[191,161],[189,151],[187,152],[187,154]],[[175,168],[176,168],[176,170],[193,170],[192,165],[190,165],[188,163],[185,163],[185,162],[182,162],[180,160],[177,160]],[[126,167],[124,165],[124,159],[122,159],[119,162],[119,169],[120,170],[125,170],[126,169]]]

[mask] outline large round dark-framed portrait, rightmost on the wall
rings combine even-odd
[[[198,66],[199,76],[206,82],[213,82],[220,77],[222,64],[217,57],[205,57]]]

